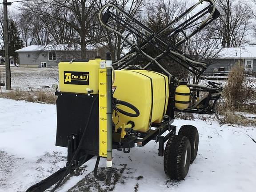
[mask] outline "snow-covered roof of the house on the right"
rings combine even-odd
[[[217,51],[219,59],[256,59],[256,47],[221,48]]]

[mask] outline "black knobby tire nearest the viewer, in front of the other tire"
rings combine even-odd
[[[164,172],[173,180],[184,180],[190,165],[191,147],[186,136],[171,136],[164,151]]]

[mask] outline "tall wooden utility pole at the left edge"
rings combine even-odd
[[[5,53],[5,76],[6,76],[6,89],[11,90],[11,68],[9,58],[9,38],[8,38],[8,16],[7,6],[12,3],[7,3],[7,0],[3,0],[4,4],[4,53]]]

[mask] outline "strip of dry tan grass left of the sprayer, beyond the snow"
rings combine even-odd
[[[47,103],[47,104],[56,104],[57,97],[53,92],[49,91],[21,91],[20,89],[2,92],[0,93],[1,97],[13,99],[13,100],[25,100],[28,102],[36,103]]]

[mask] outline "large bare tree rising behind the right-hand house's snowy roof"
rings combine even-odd
[[[219,41],[222,48],[240,47],[246,43],[246,37],[251,32],[251,10],[247,4],[234,0],[216,0],[220,17],[216,19],[209,30],[212,38]]]

